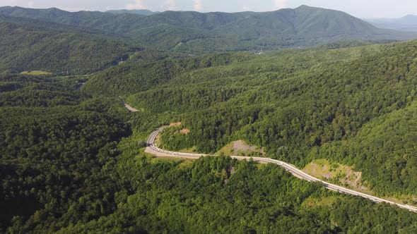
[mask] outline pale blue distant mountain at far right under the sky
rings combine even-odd
[[[402,18],[368,19],[375,27],[417,32],[417,16],[407,15]]]

